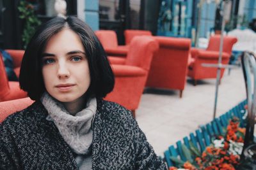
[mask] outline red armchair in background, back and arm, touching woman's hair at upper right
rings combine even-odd
[[[108,55],[118,57],[125,57],[127,55],[129,46],[118,45],[115,31],[99,30],[95,31],[95,34]]]

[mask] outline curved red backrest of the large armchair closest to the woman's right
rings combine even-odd
[[[137,36],[132,39],[125,64],[149,70],[154,52],[158,50],[157,41],[150,36]]]

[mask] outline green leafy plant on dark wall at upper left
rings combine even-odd
[[[24,20],[24,29],[22,32],[22,42],[24,48],[28,45],[31,36],[34,34],[36,27],[41,24],[35,15],[34,6],[27,1],[20,1],[18,6],[20,12],[19,18]]]

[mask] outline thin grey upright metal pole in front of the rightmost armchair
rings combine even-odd
[[[218,102],[218,90],[220,85],[220,73],[221,73],[221,60],[222,60],[222,52],[223,52],[223,32],[225,30],[225,18],[224,18],[224,9],[226,7],[226,1],[222,2],[221,5],[221,17],[222,17],[222,23],[221,23],[221,37],[220,37],[220,53],[219,53],[219,60],[218,60],[218,70],[217,70],[217,78],[216,78],[216,90],[215,90],[215,99],[214,99],[214,111],[213,111],[213,119],[216,117],[216,108],[217,108],[217,102]]]

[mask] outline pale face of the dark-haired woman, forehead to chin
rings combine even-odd
[[[58,101],[83,99],[90,86],[90,70],[84,47],[76,32],[63,29],[52,36],[42,57],[45,89]]]

